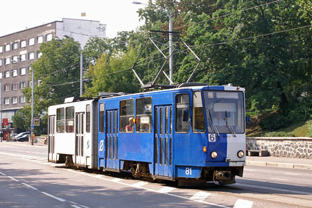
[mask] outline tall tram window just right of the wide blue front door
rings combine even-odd
[[[175,96],[175,131],[189,132],[189,94]]]

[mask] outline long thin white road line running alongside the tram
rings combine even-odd
[[[71,171],[69,169],[63,169],[64,171],[69,171],[69,172],[73,172],[73,173],[78,173],[78,174],[81,174],[81,172],[76,172],[76,171]],[[90,175],[90,174],[87,174],[89,177],[95,177],[94,175]],[[98,179],[101,179],[101,180],[105,180],[105,181],[110,181],[112,182],[112,179],[109,179],[109,178],[105,178],[105,177],[96,177]],[[127,183],[124,183],[124,182],[115,182],[117,184],[123,184],[124,186],[127,186],[127,187],[133,187],[132,184],[127,184]],[[153,190],[153,189],[148,189],[148,188],[145,188],[145,187],[137,187],[138,189],[144,189],[146,191],[150,191],[150,192],[155,192],[155,193],[159,193],[159,191],[157,190]],[[173,193],[161,193],[161,194],[165,194],[165,195],[168,195],[168,196],[173,196],[173,197],[176,197],[176,198],[182,198],[184,200],[191,200],[191,198],[187,198],[187,197],[184,197],[184,196],[178,196],[178,195],[175,195]],[[212,202],[205,202],[205,201],[196,201],[196,200],[192,200],[194,202],[200,202],[202,204],[205,204],[205,205],[212,205],[212,206],[215,206],[215,207],[223,207],[223,208],[232,208],[232,207],[227,207],[227,206],[224,206],[224,205],[218,205],[218,204],[215,204],[215,203],[212,203]],[[84,207],[84,206],[83,206]],[[85,207],[85,208],[89,208],[89,207]]]

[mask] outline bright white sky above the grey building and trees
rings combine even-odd
[[[135,31],[144,21],[139,21],[137,10],[144,5],[134,0],[1,0],[0,37],[40,26],[62,18],[97,20],[106,24],[107,37],[119,31]],[[148,3],[148,0],[140,0]],[[81,17],[85,12],[86,17]]]

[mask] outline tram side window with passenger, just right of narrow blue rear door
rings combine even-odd
[[[134,100],[120,101],[120,131],[121,132],[134,132],[135,126],[133,117],[135,116]]]

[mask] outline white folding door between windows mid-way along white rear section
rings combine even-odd
[[[85,124],[85,113],[78,112],[76,113],[76,148],[75,148],[75,159],[76,164],[85,164],[84,159],[84,125]]]

